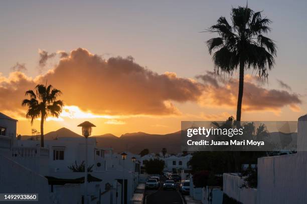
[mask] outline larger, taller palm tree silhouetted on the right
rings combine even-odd
[[[239,67],[239,91],[236,120],[241,121],[244,70],[252,68],[260,78],[267,79],[275,61],[276,45],[264,34],[270,31],[271,20],[262,18],[261,12],[239,6],[232,8],[231,24],[221,16],[217,24],[208,31],[216,32],[219,37],[207,41],[209,53],[213,51],[214,69],[217,74],[224,72],[232,75]]]

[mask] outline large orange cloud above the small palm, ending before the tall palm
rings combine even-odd
[[[47,51],[40,55],[43,62],[53,57]],[[97,115],[180,114],[173,101],[197,101],[203,87],[175,73],[158,74],[146,69],[131,56],[105,60],[83,48],[71,51],[56,67],[36,79],[13,72],[0,80],[0,94],[8,95],[0,99],[1,109],[21,109],[25,91],[47,80],[63,92],[61,99],[66,105]]]

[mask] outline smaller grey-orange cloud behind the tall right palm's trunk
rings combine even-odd
[[[199,76],[206,84],[204,105],[231,106],[237,105],[238,79],[216,80],[212,73]],[[284,106],[290,106],[294,111],[299,110],[299,96],[285,90],[266,89],[261,87],[255,77],[246,75],[244,81],[243,109],[279,111]]]

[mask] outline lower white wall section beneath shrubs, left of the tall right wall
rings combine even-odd
[[[257,189],[241,187],[244,180],[235,173],[223,174],[223,192],[243,204],[257,203]]]

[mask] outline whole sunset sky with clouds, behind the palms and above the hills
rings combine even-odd
[[[242,120],[297,120],[306,113],[305,7],[297,0],[249,0],[272,20],[277,44],[268,82],[246,73]],[[201,32],[244,0],[1,1],[0,111],[31,126],[21,107],[37,83],[61,89],[65,108],[45,132],[84,120],[93,134],[169,133],[182,120],[235,116],[237,74],[213,71]],[[196,77],[199,76],[199,77]]]

